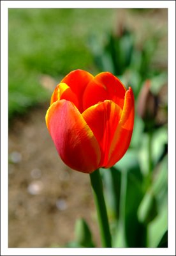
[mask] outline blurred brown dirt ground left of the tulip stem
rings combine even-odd
[[[84,218],[99,245],[89,175],[70,170],[45,125],[47,106],[16,118],[9,129],[8,246],[63,246]]]

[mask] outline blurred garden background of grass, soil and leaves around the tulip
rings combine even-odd
[[[89,175],[57,156],[45,125],[71,70],[110,71],[135,94],[130,148],[101,170],[114,247],[166,247],[166,9],[9,9],[9,247],[99,247]]]

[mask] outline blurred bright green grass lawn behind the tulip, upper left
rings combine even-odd
[[[9,9],[9,118],[49,100],[42,74],[57,80],[73,69],[90,70],[89,36],[103,40],[114,19],[113,9]]]

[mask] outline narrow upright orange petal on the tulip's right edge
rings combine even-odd
[[[133,133],[134,117],[134,95],[132,89],[129,88],[125,94],[124,108],[122,110],[121,120],[114,133],[114,138],[112,140],[109,151],[109,161],[105,168],[109,168],[117,163],[117,161],[119,161],[122,156],[124,156],[126,150],[128,150]]]

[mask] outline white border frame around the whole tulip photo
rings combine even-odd
[[[168,8],[168,248],[8,248],[8,8],[100,5]],[[175,1],[1,1],[1,128],[1,255],[175,255]]]

